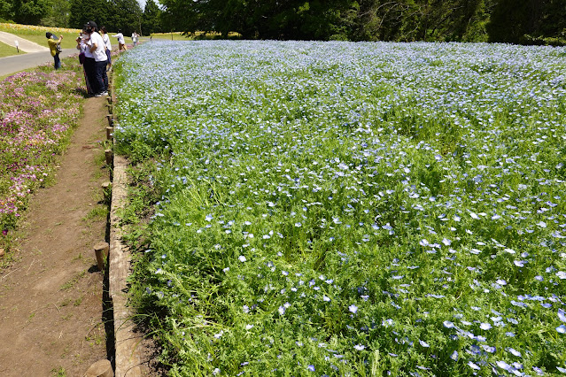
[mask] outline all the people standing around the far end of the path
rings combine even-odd
[[[55,60],[55,69],[61,66],[59,59],[60,43],[63,40],[63,35],[58,39],[51,33],[46,33],[48,39],[51,56]],[[124,35],[118,30],[117,35],[112,35],[118,38],[119,50],[128,50]],[[139,35],[136,32],[132,33],[132,42],[136,46]],[[84,68],[85,81],[87,82],[87,91],[94,96],[108,96],[108,75],[106,74],[112,68],[112,58],[110,52],[112,50],[112,43],[106,31],[106,27],[98,29],[96,22],[89,21],[82,28],[81,35],[76,39],[77,50],[80,50],[79,60]]]

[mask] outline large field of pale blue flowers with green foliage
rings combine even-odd
[[[115,137],[162,197],[173,375],[566,370],[566,50],[151,42]]]

